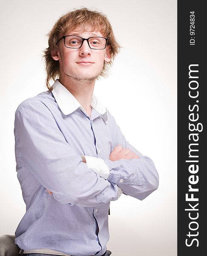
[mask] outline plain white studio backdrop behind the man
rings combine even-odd
[[[61,15],[80,6],[105,13],[123,47],[94,93],[126,140],[153,159],[160,177],[159,189],[145,200],[122,195],[111,202],[107,247],[113,256],[176,256],[175,0],[1,1],[0,235],[14,234],[26,211],[14,155],[15,110],[47,90],[41,58],[48,46],[45,35]]]

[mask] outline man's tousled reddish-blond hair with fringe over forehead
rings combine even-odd
[[[52,90],[50,86],[50,81],[53,79],[55,81],[59,78],[59,61],[55,61],[51,57],[51,51],[57,49],[57,40],[65,34],[66,31],[73,31],[75,29],[81,29],[82,32],[85,31],[98,31],[102,35],[108,38],[107,45],[108,50],[111,55],[110,62],[104,62],[102,72],[99,77],[108,76],[108,69],[112,65],[116,54],[120,50],[120,45],[116,41],[111,24],[108,18],[98,11],[89,10],[86,7],[81,9],[76,9],[74,11],[68,12],[57,20],[51,31],[48,33],[48,48],[44,50],[44,61],[45,61],[45,71],[46,71],[46,86],[49,90]]]

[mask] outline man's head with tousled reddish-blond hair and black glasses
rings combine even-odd
[[[74,37],[64,37],[67,35]],[[87,8],[60,17],[48,36],[49,47],[44,52],[48,89],[51,89],[50,79],[55,80],[61,74],[79,81],[106,76],[108,67],[120,49],[105,15]],[[81,61],[92,63],[84,64]]]

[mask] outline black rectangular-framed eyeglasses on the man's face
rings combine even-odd
[[[74,49],[79,49],[82,47],[84,40],[86,40],[91,49],[102,50],[106,48],[106,43],[108,40],[108,38],[101,36],[82,38],[76,35],[64,35],[62,38],[64,38],[65,47]],[[57,40],[56,45],[60,42],[60,40],[62,40],[62,38]]]

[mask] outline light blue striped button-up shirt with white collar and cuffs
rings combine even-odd
[[[158,187],[153,161],[125,140],[111,113],[94,95],[91,106],[88,116],[56,80],[52,91],[26,99],[17,108],[15,157],[26,213],[15,242],[23,250],[102,255],[109,240],[110,201],[117,200],[120,191],[142,200]],[[116,145],[140,158],[109,160]],[[93,157],[93,163],[102,159],[102,163],[92,169],[81,156]],[[96,172],[102,168],[105,178]]]

